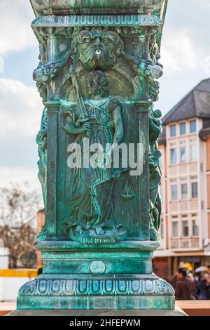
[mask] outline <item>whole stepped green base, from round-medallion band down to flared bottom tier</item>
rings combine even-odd
[[[174,289],[152,273],[158,242],[37,246],[43,275],[22,286],[18,310],[174,310]]]

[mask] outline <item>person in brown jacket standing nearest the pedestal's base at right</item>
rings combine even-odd
[[[176,283],[175,298],[177,301],[190,301],[195,299],[195,282],[187,277],[185,268],[179,268],[176,272],[178,282]]]

